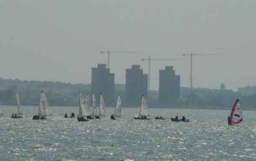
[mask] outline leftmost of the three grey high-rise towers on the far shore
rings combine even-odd
[[[115,75],[110,73],[105,64],[99,64],[97,68],[92,68],[92,93],[95,95],[98,105],[100,93],[104,97],[106,105],[114,102]]]

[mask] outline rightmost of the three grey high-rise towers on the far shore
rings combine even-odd
[[[165,66],[159,70],[159,101],[163,103],[179,100],[180,75],[175,75],[173,66]]]

